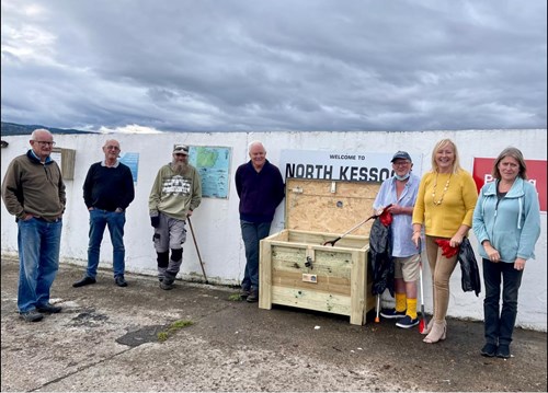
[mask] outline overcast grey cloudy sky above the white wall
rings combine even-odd
[[[2,122],[547,127],[546,0],[2,0]]]

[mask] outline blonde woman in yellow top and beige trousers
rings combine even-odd
[[[472,226],[478,193],[473,178],[460,166],[456,145],[442,139],[432,151],[432,170],[419,186],[413,209],[413,236],[416,246],[424,227],[426,255],[432,273],[434,316],[422,332],[423,342],[433,344],[445,339],[449,278],[457,265],[457,255],[445,256],[436,240],[446,240],[458,247]]]

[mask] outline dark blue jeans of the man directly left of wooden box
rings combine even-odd
[[[241,287],[259,289],[259,245],[262,239],[269,236],[271,222],[249,222],[240,220],[243,245],[246,246],[246,271]]]

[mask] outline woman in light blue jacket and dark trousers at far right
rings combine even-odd
[[[472,229],[483,259],[486,345],[481,355],[487,357],[510,358],[517,291],[525,262],[535,257],[540,235],[538,194],[526,172],[522,152],[504,149],[493,164],[495,181],[483,185],[473,211]]]

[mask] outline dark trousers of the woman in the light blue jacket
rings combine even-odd
[[[522,285],[523,270],[514,264],[493,263],[483,258],[483,300],[486,343],[510,345],[517,316],[517,291]],[[502,312],[500,310],[502,279]]]

